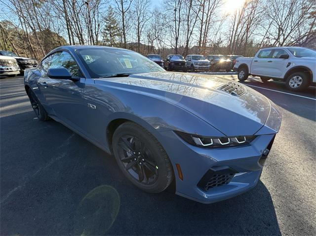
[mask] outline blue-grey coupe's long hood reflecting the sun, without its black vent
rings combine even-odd
[[[177,72],[150,72],[95,79],[96,84],[110,83],[120,89],[126,88],[172,102],[224,135],[253,135],[266,123],[271,103],[262,94],[237,82],[244,89],[241,96],[218,89],[229,82],[233,81],[213,75]]]

